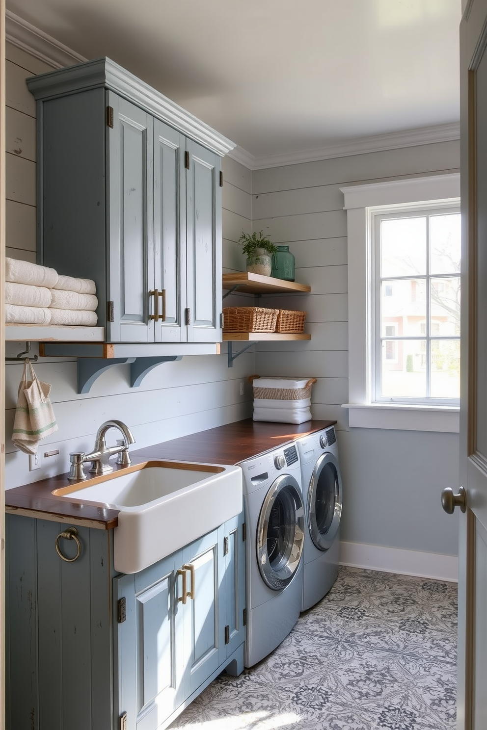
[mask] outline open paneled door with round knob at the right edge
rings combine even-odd
[[[459,730],[487,727],[487,0],[461,21]],[[464,488],[464,493],[462,491]],[[445,496],[445,493],[444,493]],[[447,510],[448,511],[448,510]]]

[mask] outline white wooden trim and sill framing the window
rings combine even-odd
[[[350,426],[365,429],[458,433],[459,407],[371,403],[367,362],[370,312],[370,209],[401,204],[441,204],[460,199],[460,174],[429,175],[340,188],[348,236],[348,408]],[[366,306],[367,305],[367,306]]]

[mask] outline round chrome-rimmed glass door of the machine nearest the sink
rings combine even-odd
[[[257,561],[269,588],[293,579],[304,547],[304,504],[294,477],[277,477],[266,494],[257,525]]]

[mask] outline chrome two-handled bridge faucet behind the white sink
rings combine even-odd
[[[107,446],[105,435],[107,434],[108,429],[112,428],[118,429],[123,435],[123,439],[117,439],[116,446]],[[98,431],[96,431],[93,451],[88,454],[83,451],[73,451],[69,454],[71,466],[69,468],[68,479],[75,480],[77,482],[86,479],[83,464],[87,461],[91,461],[90,474],[100,475],[112,472],[113,466],[110,464],[109,459],[113,454],[118,454],[117,464],[121,466],[128,466],[131,463],[129,445],[134,443],[135,439],[125,423],[122,423],[121,420],[106,420],[101,424]]]

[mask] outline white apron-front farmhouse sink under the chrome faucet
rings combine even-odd
[[[136,573],[242,511],[239,466],[145,461],[53,491],[120,510],[115,570]]]

